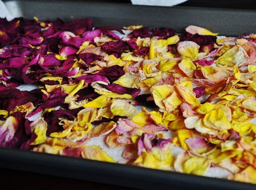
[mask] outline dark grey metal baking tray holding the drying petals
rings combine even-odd
[[[255,10],[152,7],[74,0],[4,0],[15,17],[64,20],[92,18],[95,26],[143,24],[169,27],[178,32],[198,25],[223,35],[255,32]],[[92,161],[68,156],[0,147],[0,167],[89,180],[138,189],[255,190],[256,185],[237,181],[161,171],[138,166]]]

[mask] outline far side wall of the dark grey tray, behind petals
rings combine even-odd
[[[197,25],[222,35],[237,36],[255,32],[255,10],[210,9],[195,7],[156,7],[130,4],[97,3],[72,0],[5,0],[15,17],[64,20],[88,17],[95,26],[140,25],[169,27],[182,31],[188,25]]]

